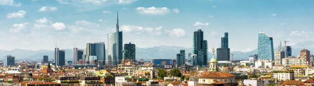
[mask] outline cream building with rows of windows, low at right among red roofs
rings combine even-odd
[[[291,71],[272,71],[272,78],[278,80],[293,80],[295,79],[295,75]]]

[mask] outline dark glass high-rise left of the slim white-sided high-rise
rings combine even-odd
[[[65,65],[65,50],[60,50],[59,48],[54,48],[54,62],[57,66]]]

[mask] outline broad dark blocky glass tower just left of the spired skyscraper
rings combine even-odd
[[[97,56],[97,61],[100,63],[100,65],[105,65],[106,63],[105,42],[87,43],[86,55]]]

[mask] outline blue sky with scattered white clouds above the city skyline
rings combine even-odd
[[[314,48],[314,1],[0,0],[0,49],[85,48],[105,42],[119,11],[123,42],[137,47],[192,47],[202,29],[208,46],[229,33],[231,51],[257,48],[263,31],[297,48]],[[302,45],[301,45],[302,44]],[[106,45],[107,46],[107,45]]]

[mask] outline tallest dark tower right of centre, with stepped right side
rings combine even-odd
[[[195,63],[197,66],[206,66],[208,57],[207,57],[207,40],[204,40],[204,34],[202,30],[194,32],[193,35],[193,53],[197,54],[197,59]]]

